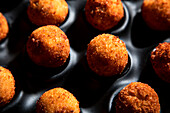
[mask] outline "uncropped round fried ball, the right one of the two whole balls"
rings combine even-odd
[[[121,74],[128,63],[126,45],[117,36],[98,35],[88,44],[87,62],[91,70],[100,76]]]

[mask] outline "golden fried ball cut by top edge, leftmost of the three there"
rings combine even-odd
[[[30,21],[38,26],[59,26],[67,17],[68,4],[65,0],[30,0],[27,14]]]

